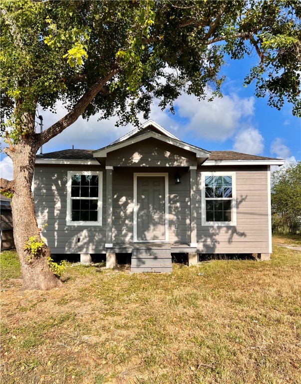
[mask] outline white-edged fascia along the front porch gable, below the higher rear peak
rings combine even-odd
[[[151,137],[157,138],[158,140],[161,140],[161,141],[166,142],[168,144],[178,146],[182,149],[186,149],[190,152],[194,152],[194,153],[196,153],[197,157],[208,157],[210,154],[210,152],[207,152],[203,149],[200,149],[197,146],[186,144],[185,142],[183,142],[181,140],[174,139],[172,137],[166,137],[166,136],[163,136],[162,134],[150,131],[150,132],[145,132],[145,133],[141,134],[140,136],[135,136],[132,139],[128,139],[126,142],[125,141],[117,142],[115,144],[110,145],[109,147],[95,150],[93,152],[93,156],[94,157],[106,157],[107,154],[109,152],[112,152],[113,150],[117,150],[117,149],[123,148],[125,146],[135,144],[136,142],[139,142],[139,141],[145,140],[147,138],[151,138]]]

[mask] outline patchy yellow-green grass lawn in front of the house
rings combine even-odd
[[[2,252],[3,383],[301,382],[300,251],[172,274],[68,264],[51,291],[19,277]]]

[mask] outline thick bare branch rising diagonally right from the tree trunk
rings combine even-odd
[[[112,69],[105,77],[97,79],[95,84],[87,89],[86,92],[80,97],[70,112],[39,134],[39,146],[45,144],[45,142],[49,141],[51,138],[62,132],[65,128],[76,121],[97,93],[99,93],[104,85],[118,72],[119,69],[115,68]]]

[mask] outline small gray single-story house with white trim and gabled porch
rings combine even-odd
[[[272,252],[270,166],[208,151],[149,120],[97,150],[36,156],[34,201],[52,253],[128,253],[131,271],[171,271],[171,254]]]

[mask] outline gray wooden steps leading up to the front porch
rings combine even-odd
[[[133,248],[131,272],[171,272],[170,247]]]

